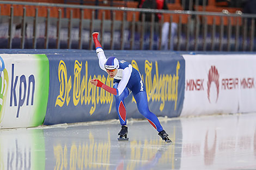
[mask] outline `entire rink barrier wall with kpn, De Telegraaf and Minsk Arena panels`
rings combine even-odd
[[[157,116],[256,110],[253,104],[256,53],[105,51],[105,54],[129,61],[141,72],[149,109]],[[113,85],[113,79],[100,69],[94,50],[1,49],[0,56],[1,93],[6,93],[1,94],[1,128],[118,119],[114,96],[88,83],[97,78]],[[125,106],[127,118],[143,118],[132,95],[125,99]]]

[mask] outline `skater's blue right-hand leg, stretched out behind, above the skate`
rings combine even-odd
[[[163,128],[153,112],[149,111],[147,93],[145,91],[139,92],[134,96],[139,112],[148,119],[149,123],[158,131],[162,131]]]

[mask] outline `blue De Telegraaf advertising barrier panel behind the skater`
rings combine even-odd
[[[47,54],[50,87],[44,124],[118,118],[113,95],[89,83],[97,78],[112,86],[113,79],[100,69],[95,51],[80,52]],[[185,61],[180,54],[106,51],[106,56],[127,60],[141,72],[149,109],[157,116],[180,115],[185,89]],[[125,105],[127,118],[143,118],[132,95],[125,99]]]

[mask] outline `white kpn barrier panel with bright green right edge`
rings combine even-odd
[[[0,54],[0,127],[34,127],[44,122],[49,87],[45,54]]]

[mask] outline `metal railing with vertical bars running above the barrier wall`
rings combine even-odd
[[[92,33],[97,31],[105,49],[256,50],[256,15],[241,12],[230,14],[227,10],[155,10],[9,1],[0,1],[0,4],[11,4],[9,15],[0,16],[0,48],[93,49]],[[14,15],[13,5],[24,5],[21,16]],[[32,6],[36,7],[34,15],[26,16],[27,8]],[[46,16],[39,16],[38,8],[41,7],[47,8]],[[57,17],[51,16],[52,7],[58,9]],[[79,9],[78,18],[74,18],[75,9]],[[64,12],[69,17],[63,17]],[[143,13],[141,20],[138,20],[139,13]],[[151,21],[145,21],[145,13],[150,13]],[[155,22],[155,14],[162,14],[159,22]]]

